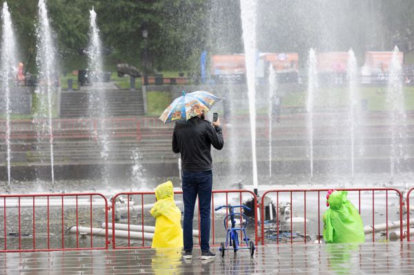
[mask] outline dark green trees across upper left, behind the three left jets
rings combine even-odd
[[[63,67],[86,66],[82,50],[88,45],[89,10],[95,6],[106,63],[132,63],[142,67],[148,52],[152,68],[184,70],[197,63],[208,48],[208,7],[204,0],[49,0],[48,15],[55,32]],[[37,1],[14,0],[12,18],[19,34],[24,63],[34,71]],[[144,41],[142,30],[148,30]],[[72,64],[74,63],[75,64]]]

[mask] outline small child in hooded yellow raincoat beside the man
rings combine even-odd
[[[161,183],[155,189],[157,202],[150,213],[157,219],[152,248],[183,247],[181,211],[175,205],[172,182]]]

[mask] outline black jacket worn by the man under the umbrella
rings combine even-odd
[[[210,145],[221,150],[224,145],[221,127],[195,116],[177,121],[172,134],[172,152],[181,153],[182,170],[201,172],[213,170]]]

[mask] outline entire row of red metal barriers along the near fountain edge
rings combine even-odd
[[[400,241],[404,239],[404,232],[402,229],[403,224],[403,201],[402,193],[399,190],[394,188],[346,188],[346,189],[337,189],[338,191],[346,190],[349,192],[351,202],[357,207],[360,214],[362,214],[363,219],[365,217],[366,221],[372,221],[373,232],[375,232],[375,221],[378,222],[380,219],[379,216],[382,216],[380,213],[381,207],[384,207],[385,213],[382,218],[385,218],[385,221],[388,221],[388,206],[392,205],[389,202],[392,201],[389,198],[389,192],[397,194],[398,198],[395,205],[399,210],[399,221],[400,221]],[[406,209],[407,211],[407,221],[410,218],[410,200],[409,196],[414,190],[412,188],[408,191],[406,196]],[[293,212],[299,210],[304,214],[304,236],[303,242],[306,243],[306,232],[309,229],[308,222],[306,218],[311,218],[310,216],[317,216],[317,227],[313,227],[315,230],[317,228],[317,241],[320,240],[321,230],[321,205],[324,205],[325,194],[322,192],[327,192],[328,189],[295,189],[295,190],[269,190],[265,192],[262,196],[261,203],[257,204],[257,197],[253,192],[247,190],[213,190],[211,197],[211,237],[210,244],[215,246],[219,245],[220,241],[224,239],[224,228],[223,218],[224,213],[217,213],[214,211],[214,208],[219,205],[228,205],[229,203],[235,205],[242,205],[246,199],[253,199],[254,201],[254,213],[255,217],[258,217],[257,207],[261,208],[261,220],[264,221],[266,209],[265,198],[268,198],[272,193],[275,193],[275,201],[277,204],[276,211],[276,226],[277,232],[279,232],[279,221],[281,218],[279,216],[279,202],[284,198],[290,202],[290,231],[293,227]],[[176,195],[181,195],[182,192],[175,192]],[[312,203],[312,194],[317,195],[317,214],[315,213],[315,205],[309,207]],[[353,195],[351,195],[353,194]],[[356,195],[356,196],[355,196]],[[117,216],[117,211],[119,211],[121,196],[126,196],[126,200],[123,201],[124,204],[124,218],[126,219],[126,225],[128,225],[128,238],[127,245],[120,245],[116,242],[115,236],[115,216]],[[303,201],[302,201],[303,196]],[[320,199],[322,196],[322,200]],[[99,200],[94,200],[97,197]],[[177,197],[177,196],[176,196]],[[133,199],[135,198],[135,200]],[[3,199],[3,201],[1,201]],[[176,198],[177,199],[177,198]],[[369,203],[366,203],[366,199],[371,200]],[[309,203],[311,201],[311,203]],[[135,202],[135,203],[134,203]],[[54,251],[54,250],[81,250],[81,249],[108,249],[109,243],[112,241],[113,249],[124,249],[124,248],[144,248],[149,247],[150,243],[144,241],[144,225],[148,223],[155,223],[152,217],[149,214],[149,210],[155,202],[155,192],[123,192],[116,194],[112,198],[112,237],[108,234],[108,212],[111,210],[108,207],[108,201],[105,196],[98,193],[74,193],[74,194],[5,194],[0,195],[0,208],[3,207],[3,210],[0,210],[0,220],[1,216],[3,218],[3,230],[1,230],[0,225],[0,238],[3,237],[4,242],[0,242],[0,252],[36,252],[36,251]],[[372,206],[371,206],[372,202]],[[177,200],[178,203],[178,200]],[[295,205],[293,204],[295,203]],[[377,205],[375,205],[377,203]],[[302,205],[302,206],[301,206]],[[99,207],[99,208],[97,208]],[[145,209],[147,208],[147,209]],[[365,210],[364,210],[365,208]],[[101,227],[100,218],[96,214],[97,209],[101,210],[105,216],[105,232],[102,238],[97,239],[94,243],[94,233],[92,232],[92,227]],[[377,212],[375,212],[377,210]],[[199,213],[199,210],[197,210]],[[368,212],[368,219],[366,213]],[[371,216],[370,213],[371,212]],[[226,215],[228,210],[226,209]],[[377,214],[377,215],[376,215]],[[122,215],[121,215],[122,216]],[[197,215],[199,217],[199,214]],[[219,222],[217,222],[217,218]],[[152,220],[145,221],[145,218],[151,218]],[[135,219],[136,218],[136,219]],[[139,224],[139,219],[141,223]],[[142,238],[139,243],[132,243],[130,238],[130,226],[139,225],[141,227]],[[255,230],[255,243],[256,245],[261,240],[262,245],[265,245],[265,233],[264,233],[264,223],[262,222],[261,226],[261,236],[258,236],[258,219],[254,219],[253,230]],[[239,221],[239,225],[242,226],[242,220]],[[79,232],[79,225],[86,223],[88,226],[87,230],[90,233],[90,241],[86,238],[79,238],[81,235]],[[125,221],[124,221],[125,223]],[[311,221],[309,222],[311,223]],[[70,225],[75,225],[76,235],[69,235],[66,233],[66,228]],[[199,227],[199,218],[198,218],[198,227]],[[89,232],[90,230],[90,232]],[[219,233],[217,234],[217,231]],[[85,231],[83,231],[85,232]],[[220,235],[221,232],[221,236]],[[40,235],[40,236],[39,236]],[[250,234],[253,236],[253,234]],[[75,239],[74,239],[75,238]],[[244,236],[240,236],[242,240]],[[289,236],[290,240],[288,243],[293,242],[293,234]],[[407,225],[407,240],[410,239],[410,224]],[[52,242],[51,242],[52,241]],[[373,234],[373,241],[375,241],[375,234]],[[386,241],[388,241],[388,223],[386,223]],[[52,243],[58,245],[53,245]],[[98,243],[98,244],[97,244]],[[99,245],[103,243],[103,245]],[[125,243],[125,242],[124,242]],[[277,238],[277,243],[279,243],[279,238]],[[60,244],[60,245],[59,245]],[[30,248],[28,248],[30,247]]]

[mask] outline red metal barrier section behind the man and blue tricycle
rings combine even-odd
[[[175,195],[181,195],[183,194],[182,191],[176,191],[174,192]],[[217,204],[217,197],[223,195],[224,198],[220,198],[222,201],[222,204],[229,204],[231,203],[231,201],[229,201],[229,194],[235,194],[237,195],[237,204],[240,203],[240,205],[242,204],[244,198],[243,198],[243,194],[248,195],[248,198],[253,198],[253,201],[255,202],[255,216],[257,217],[257,198],[255,196],[255,194],[253,192],[247,191],[247,190],[213,190],[212,191],[212,196],[211,196],[211,237],[210,237],[210,244],[215,246],[215,245],[219,245],[219,243],[217,243],[217,234],[216,231],[217,230],[221,230],[224,234],[224,227],[222,226],[223,220],[221,219],[219,221],[219,223],[217,224],[217,216],[218,214],[215,212],[215,207],[219,206]],[[126,224],[128,225],[128,241],[126,241],[126,245],[117,245],[116,242],[116,236],[115,236],[115,216],[117,216],[117,207],[116,207],[116,202],[117,202],[117,198],[119,196],[126,196],[126,213],[124,214],[126,216]],[[138,203],[138,207],[135,208],[137,205],[134,203],[130,203],[132,201],[132,196],[135,196],[135,201]],[[246,198],[246,197],[245,197]],[[175,198],[175,200],[178,202],[177,200],[177,196]],[[150,243],[146,243],[144,241],[144,216],[147,215],[147,217],[150,217],[150,219],[152,219],[152,223],[155,223],[154,219],[152,218],[152,216],[150,216],[149,214],[149,210],[150,207],[152,207],[153,203],[156,201],[155,198],[155,192],[123,192],[123,193],[119,193],[116,194],[113,198],[112,198],[112,248],[113,249],[125,249],[125,248],[148,248],[150,247]],[[235,202],[236,203],[236,202]],[[221,205],[222,205],[221,204]],[[234,204],[233,204],[234,205]],[[144,211],[144,208],[147,207],[147,209]],[[241,211],[241,210],[240,210]],[[197,206],[197,212],[198,212],[198,227],[199,225],[199,207]],[[228,210],[226,209],[226,214],[228,214]],[[135,225],[139,225],[141,226],[141,233],[142,233],[142,237],[141,240],[139,242],[139,245],[132,245],[131,243],[131,238],[130,238],[130,225],[132,225],[132,222],[134,220],[133,217],[135,217],[134,215],[137,215],[137,217],[141,218],[141,224],[139,225],[138,222],[138,218],[136,221]],[[224,216],[223,216],[224,218]],[[257,218],[254,219],[254,230],[255,230],[255,243],[257,245],[258,243],[258,230],[257,230]],[[148,221],[147,223],[145,223],[146,225],[148,225]],[[242,221],[240,221],[239,223],[242,226]],[[218,227],[217,230],[215,230],[215,225]],[[221,228],[223,227],[223,228]],[[199,229],[199,228],[198,228]],[[251,234],[250,234],[251,236]],[[243,236],[240,236],[240,241],[242,241]],[[200,237],[199,237],[199,241],[200,241]],[[242,243],[242,242],[240,242]]]

